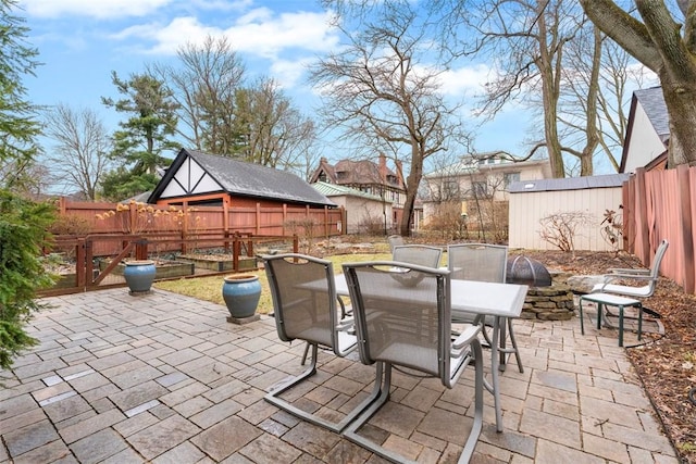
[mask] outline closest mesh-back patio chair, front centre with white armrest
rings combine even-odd
[[[460,463],[468,463],[483,426],[481,327],[470,326],[452,341],[449,272],[390,261],[344,264],[343,267],[353,302],[360,360],[369,365],[376,363],[374,390],[381,392],[346,428],[344,436],[382,457],[403,462],[403,456],[359,434],[389,399],[391,369],[436,377],[445,387],[452,388],[464,367],[473,363],[473,424],[459,459]],[[418,275],[418,284],[405,286],[394,279],[395,267]],[[376,430],[370,435],[380,436]]]

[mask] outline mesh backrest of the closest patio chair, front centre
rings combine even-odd
[[[397,267],[401,272],[395,272]],[[403,272],[420,274],[418,284],[405,286],[394,278]],[[361,361],[410,367],[451,388],[449,272],[374,261],[344,264],[344,274]]]

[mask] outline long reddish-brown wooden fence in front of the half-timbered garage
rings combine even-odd
[[[147,235],[160,243],[161,251],[187,248],[221,247],[235,235],[263,237],[331,237],[345,234],[346,211],[278,204],[277,206],[228,208],[165,206],[144,203],[58,201],[63,218],[63,234],[128,234]],[[71,229],[72,228],[72,229]],[[157,238],[179,240],[177,246]],[[214,241],[212,237],[222,238]],[[112,255],[115,249],[96,244],[95,255]]]

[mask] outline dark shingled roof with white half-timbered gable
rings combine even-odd
[[[179,170],[186,172],[177,175]],[[215,191],[238,197],[336,206],[308,183],[287,171],[187,149],[178,152],[154,188],[149,202],[157,202],[163,193],[172,198]]]

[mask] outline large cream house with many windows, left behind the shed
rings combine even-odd
[[[469,203],[475,200],[508,200],[508,186],[514,181],[537,180],[551,177],[548,160],[514,162],[505,151],[467,155],[457,163],[444,166],[423,176],[423,216],[437,214],[444,203],[461,202],[465,215]]]

